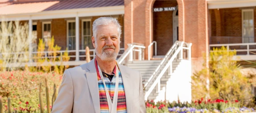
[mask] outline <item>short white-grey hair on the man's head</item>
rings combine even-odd
[[[120,42],[120,37],[122,34],[121,26],[120,26],[118,20],[115,18],[112,18],[112,17],[100,17],[100,18],[94,20],[94,22],[93,22],[93,37],[95,38],[95,41],[96,41],[96,37],[97,37],[98,26],[109,25],[110,23],[114,23],[118,27],[118,39]]]

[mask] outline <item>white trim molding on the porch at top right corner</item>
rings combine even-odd
[[[208,9],[243,8],[256,6],[256,0],[207,0]]]

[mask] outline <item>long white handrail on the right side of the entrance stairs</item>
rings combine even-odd
[[[183,58],[183,49],[186,49],[189,51],[188,53],[188,60],[191,60],[191,45],[192,43],[185,43],[187,47],[183,47],[184,42],[176,41],[174,45],[170,48],[170,50],[165,55],[162,62],[158,65],[157,69],[154,71],[154,73],[151,75],[149,80],[145,84],[145,100],[147,100],[147,97],[150,95],[154,87],[158,84],[160,84],[160,79],[162,78],[163,74],[166,72],[167,68],[169,66],[172,66],[172,62],[175,58],[177,58],[179,54],[179,58]],[[158,90],[159,86],[158,86]]]

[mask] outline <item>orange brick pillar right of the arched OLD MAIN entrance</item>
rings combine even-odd
[[[192,73],[194,73],[195,71],[202,69],[202,64],[204,61],[203,55],[208,56],[209,54],[208,53],[209,43],[208,43],[207,1],[184,0],[183,3],[184,3],[183,19],[184,19],[184,27],[185,27],[184,41],[187,43],[192,43],[191,64],[192,64]]]

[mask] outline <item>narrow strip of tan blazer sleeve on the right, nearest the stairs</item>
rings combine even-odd
[[[142,76],[139,73],[139,104],[140,104],[140,113],[146,113],[146,105],[144,100],[144,89],[142,86]]]

